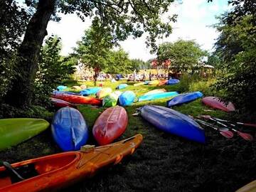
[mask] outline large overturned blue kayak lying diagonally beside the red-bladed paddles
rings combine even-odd
[[[139,111],[157,129],[194,142],[206,143],[204,129],[185,114],[157,105],[145,105]]]

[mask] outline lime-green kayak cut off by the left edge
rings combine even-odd
[[[36,136],[46,130],[49,125],[44,119],[0,119],[0,151],[11,146],[16,146]]]

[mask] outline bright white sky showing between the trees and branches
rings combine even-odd
[[[223,14],[230,9],[226,0],[214,0],[207,3],[207,0],[183,0],[182,3],[175,2],[169,7],[168,15],[178,14],[176,23],[172,24],[173,33],[168,38],[158,39],[157,44],[164,42],[174,42],[178,38],[184,40],[194,40],[203,50],[212,50],[218,33],[212,26],[217,23],[215,16]],[[78,16],[69,14],[61,15],[62,20],[58,23],[50,21],[48,23],[48,35],[58,35],[62,38],[62,55],[73,52],[76,42],[80,41],[84,31],[90,27],[89,18],[82,22]],[[164,19],[165,16],[163,16]],[[129,53],[129,58],[139,58],[144,61],[155,58],[156,55],[149,53],[146,48],[146,36],[133,39],[128,38],[120,43],[122,48]]]

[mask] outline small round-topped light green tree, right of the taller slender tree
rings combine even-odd
[[[124,50],[110,50],[107,55],[105,73],[110,74],[127,74],[132,73],[134,66],[131,60],[129,60],[129,55]]]

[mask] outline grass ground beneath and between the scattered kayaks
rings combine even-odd
[[[122,82],[124,81],[105,82],[105,87],[112,87],[114,90]],[[65,85],[71,87],[76,84],[93,86],[92,82],[66,82]],[[132,85],[132,82],[129,84]],[[181,85],[128,86],[124,90],[132,90],[139,96],[162,87],[168,91],[184,90]],[[193,87],[194,89],[196,87]],[[144,136],[142,145],[121,164],[104,169],[94,177],[63,191],[235,191],[256,179],[255,142],[246,142],[240,137],[225,139],[218,132],[206,128],[207,144],[197,144],[161,132],[142,117],[132,116],[138,107],[165,106],[166,100],[135,102],[134,105],[125,107],[129,114],[129,124],[119,139],[141,133]],[[95,119],[105,110],[103,107],[89,105],[80,105],[78,109],[85,117],[90,132]],[[193,116],[210,114],[214,117],[228,118],[225,112],[209,110],[201,104],[201,100],[174,107],[174,110]],[[92,135],[88,144],[95,144]],[[60,149],[48,129],[27,142],[2,151],[0,159],[14,162],[57,152],[60,152]]]

